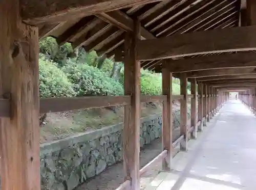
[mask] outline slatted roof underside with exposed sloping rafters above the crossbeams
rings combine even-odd
[[[141,21],[141,39],[154,39],[238,26],[240,5],[239,0],[166,0],[40,25],[39,36],[110,57],[123,51],[124,32],[132,30],[133,18]],[[143,61],[141,67],[159,71],[161,64],[162,60]]]

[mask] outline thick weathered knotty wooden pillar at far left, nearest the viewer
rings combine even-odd
[[[0,119],[2,190],[39,190],[38,29],[20,18],[18,0],[0,1],[0,95],[11,116]]]

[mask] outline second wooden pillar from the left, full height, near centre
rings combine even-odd
[[[137,41],[140,23],[134,21],[134,32],[126,32],[124,40],[124,94],[131,96],[131,105],[124,106],[123,166],[125,180],[131,180],[131,190],[140,189],[140,62]]]

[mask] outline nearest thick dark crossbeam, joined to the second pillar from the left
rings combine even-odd
[[[245,26],[141,40],[138,43],[138,60],[255,50],[255,30],[256,26]],[[208,43],[205,43],[206,41]]]

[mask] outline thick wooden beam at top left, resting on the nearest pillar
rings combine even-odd
[[[70,18],[81,18],[102,12],[110,12],[127,7],[139,6],[161,0],[23,0],[20,7],[23,21],[36,25],[45,22],[60,22]]]

